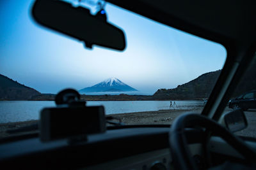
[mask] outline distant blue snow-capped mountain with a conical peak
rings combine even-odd
[[[118,78],[108,78],[107,80],[101,81],[97,85],[92,87],[86,87],[79,90],[81,94],[86,94],[88,92],[134,92],[138,91],[131,86],[123,83]]]

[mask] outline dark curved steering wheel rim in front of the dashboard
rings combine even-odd
[[[234,134],[225,127],[202,115],[186,113],[175,119],[169,134],[171,156],[175,169],[198,169],[195,161],[191,157],[186,141],[185,128],[188,127],[202,127],[205,131],[213,132],[214,136],[220,136],[229,145],[235,148],[237,152],[241,153],[246,160],[253,162],[256,159],[256,153],[252,148],[246,145],[244,141],[234,136]]]

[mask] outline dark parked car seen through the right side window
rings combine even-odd
[[[241,96],[231,99],[228,108],[242,108],[243,110],[256,109],[256,90],[246,92]]]

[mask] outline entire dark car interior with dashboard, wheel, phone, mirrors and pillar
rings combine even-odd
[[[102,106],[84,106],[76,91],[63,90],[55,98],[60,107],[42,110],[39,134],[0,140],[1,168],[256,169],[256,138],[234,134],[248,126],[243,110],[223,114],[256,56],[256,1],[105,3],[225,47],[227,59],[202,113],[182,114],[172,125],[125,125],[105,115]],[[85,48],[128,48],[124,31],[109,23],[103,10],[91,15],[65,1],[36,0],[29,14],[41,27],[83,41]]]

